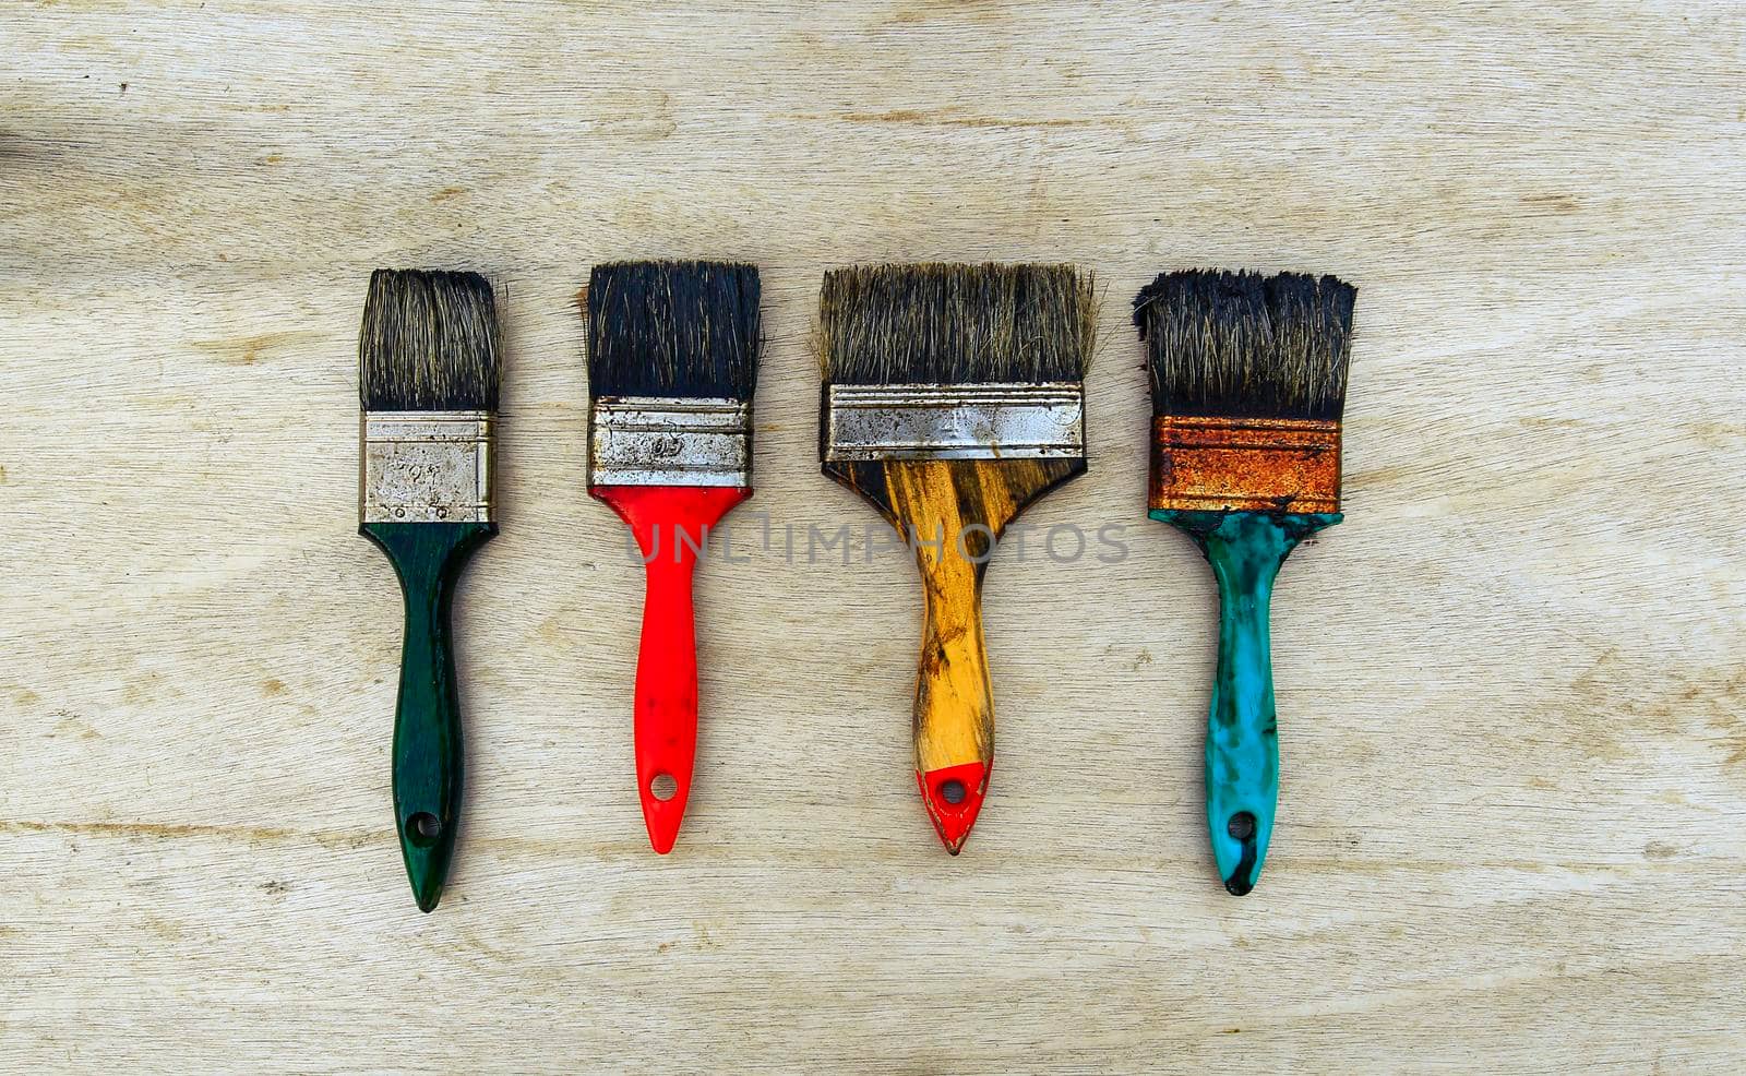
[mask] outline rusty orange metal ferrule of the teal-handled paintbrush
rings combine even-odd
[[[1339,512],[1339,423],[1152,416],[1149,507]]]

